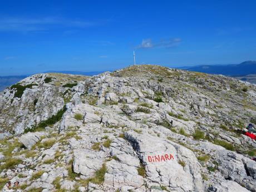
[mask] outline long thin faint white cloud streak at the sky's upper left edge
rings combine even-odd
[[[33,32],[48,31],[60,27],[90,27],[99,24],[91,21],[79,21],[60,17],[44,18],[0,18],[0,31]]]

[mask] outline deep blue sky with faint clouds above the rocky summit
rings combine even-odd
[[[2,1],[0,75],[256,60],[256,1]]]

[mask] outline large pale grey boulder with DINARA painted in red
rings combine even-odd
[[[125,132],[153,183],[176,191],[203,191],[200,164],[194,153],[172,141],[149,134]]]

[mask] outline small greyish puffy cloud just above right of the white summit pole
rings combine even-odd
[[[154,47],[165,47],[170,48],[179,45],[181,42],[180,38],[171,38],[169,40],[161,40],[159,42],[152,43],[150,38],[142,40],[141,44],[136,48],[154,48]]]

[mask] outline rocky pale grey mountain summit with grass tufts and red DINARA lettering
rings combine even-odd
[[[37,74],[0,93],[0,185],[23,191],[256,191],[256,86],[135,65]]]

